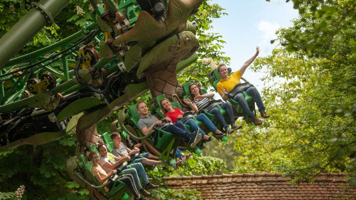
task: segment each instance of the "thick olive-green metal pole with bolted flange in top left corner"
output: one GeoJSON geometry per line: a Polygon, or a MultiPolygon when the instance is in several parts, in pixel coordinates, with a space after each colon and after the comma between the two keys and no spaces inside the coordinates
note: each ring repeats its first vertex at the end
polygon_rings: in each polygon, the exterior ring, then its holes
{"type": "Polygon", "coordinates": [[[31,10],[0,38],[0,69],[15,56],[45,25],[69,3],[69,0],[41,0],[32,2],[31,10]]]}

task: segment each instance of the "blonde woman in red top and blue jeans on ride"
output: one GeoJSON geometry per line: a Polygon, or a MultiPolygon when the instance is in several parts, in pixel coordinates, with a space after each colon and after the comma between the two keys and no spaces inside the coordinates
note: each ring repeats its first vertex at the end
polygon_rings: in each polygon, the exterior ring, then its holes
{"type": "MultiPolygon", "coordinates": [[[[193,106],[191,100],[186,99],[186,100],[184,100],[184,102],[191,104],[193,106]]],[[[172,103],[170,100],[167,100],[167,99],[160,100],[160,106],[161,106],[164,116],[170,118],[173,123],[175,123],[176,120],[183,118],[184,113],[179,108],[173,109],[172,103]]],[[[194,113],[194,111],[191,111],[191,112],[194,113]]],[[[209,120],[208,117],[206,117],[206,115],[199,114],[196,118],[197,118],[197,120],[202,121],[210,129],[210,131],[212,133],[215,133],[215,135],[217,135],[217,136],[225,136],[226,135],[226,134],[222,133],[220,130],[218,130],[218,128],[211,122],[211,120],[209,120]]],[[[195,122],[195,120],[189,119],[189,120],[185,121],[184,124],[189,125],[190,127],[192,127],[193,130],[198,131],[202,135],[202,138],[204,140],[207,140],[207,141],[213,140],[212,137],[207,136],[201,129],[199,129],[199,126],[195,122]]]]}

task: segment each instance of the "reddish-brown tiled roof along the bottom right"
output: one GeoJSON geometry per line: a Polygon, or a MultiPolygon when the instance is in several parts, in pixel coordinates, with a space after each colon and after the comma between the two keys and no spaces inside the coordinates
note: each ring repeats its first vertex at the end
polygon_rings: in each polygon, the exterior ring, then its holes
{"type": "Polygon", "coordinates": [[[173,189],[200,191],[204,200],[356,200],[345,174],[320,174],[313,183],[291,184],[282,174],[223,174],[168,177],[173,189]]]}

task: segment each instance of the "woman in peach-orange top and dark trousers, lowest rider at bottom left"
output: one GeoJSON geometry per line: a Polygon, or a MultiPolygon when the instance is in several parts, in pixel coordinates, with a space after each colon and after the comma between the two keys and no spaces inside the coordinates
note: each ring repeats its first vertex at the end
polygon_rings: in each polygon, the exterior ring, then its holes
{"type": "MultiPolygon", "coordinates": [[[[99,155],[95,151],[91,151],[88,155],[89,160],[93,162],[93,167],[92,167],[92,174],[95,177],[98,182],[103,185],[107,182],[107,180],[114,174],[117,173],[117,170],[114,169],[112,170],[109,174],[107,174],[99,165],[99,155]]],[[[131,191],[131,193],[134,195],[135,200],[147,200],[146,198],[142,198],[135,185],[134,178],[131,174],[125,174],[125,177],[119,178],[118,179],[121,182],[124,182],[127,186],[127,188],[131,191]]],[[[109,191],[109,188],[104,187],[105,192],[109,191]]]]}

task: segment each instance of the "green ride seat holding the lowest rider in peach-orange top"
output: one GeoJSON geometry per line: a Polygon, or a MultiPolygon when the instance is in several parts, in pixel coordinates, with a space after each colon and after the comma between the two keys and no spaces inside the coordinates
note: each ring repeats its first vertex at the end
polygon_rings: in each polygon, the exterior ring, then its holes
{"type": "MultiPolygon", "coordinates": [[[[123,196],[126,193],[126,184],[119,181],[119,180],[115,180],[113,183],[110,183],[108,180],[107,183],[105,183],[104,185],[101,185],[98,180],[93,176],[92,174],[92,167],[93,167],[93,162],[92,161],[87,161],[84,155],[80,155],[79,156],[79,166],[81,166],[85,172],[86,175],[89,176],[88,178],[91,179],[94,183],[94,185],[96,186],[101,186],[99,188],[99,191],[103,194],[105,194],[107,197],[109,197],[109,199],[122,199],[123,196]],[[110,190],[108,192],[105,192],[104,187],[106,187],[107,185],[112,184],[112,187],[110,188],[110,190]]],[[[115,175],[117,176],[117,175],[115,175]]],[[[124,175],[122,173],[119,174],[120,177],[123,177],[124,175]]]]}

